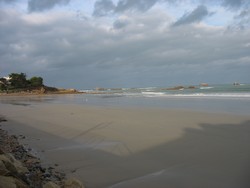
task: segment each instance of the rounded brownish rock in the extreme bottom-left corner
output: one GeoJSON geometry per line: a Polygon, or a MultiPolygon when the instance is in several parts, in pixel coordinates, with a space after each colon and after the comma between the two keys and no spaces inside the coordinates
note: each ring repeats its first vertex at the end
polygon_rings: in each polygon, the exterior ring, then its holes
{"type": "Polygon", "coordinates": [[[28,188],[28,185],[14,177],[0,176],[0,188],[28,188]]]}

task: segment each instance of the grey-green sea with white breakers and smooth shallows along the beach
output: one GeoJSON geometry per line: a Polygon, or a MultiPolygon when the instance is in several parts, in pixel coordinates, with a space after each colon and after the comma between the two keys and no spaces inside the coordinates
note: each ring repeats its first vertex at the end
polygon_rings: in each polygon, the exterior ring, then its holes
{"type": "MultiPolygon", "coordinates": [[[[250,115],[250,84],[209,85],[169,90],[160,87],[121,88],[85,94],[48,95],[12,100],[13,104],[64,103],[109,107],[153,107],[250,115]]],[[[3,102],[3,100],[0,99],[3,102]]],[[[6,102],[6,101],[5,101],[6,102]]]]}

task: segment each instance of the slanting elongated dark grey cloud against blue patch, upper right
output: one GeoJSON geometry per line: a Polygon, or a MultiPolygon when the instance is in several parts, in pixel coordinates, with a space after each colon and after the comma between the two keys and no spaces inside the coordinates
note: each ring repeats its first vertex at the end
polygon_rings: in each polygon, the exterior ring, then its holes
{"type": "Polygon", "coordinates": [[[196,9],[194,9],[191,13],[184,14],[179,20],[177,20],[173,24],[173,26],[200,22],[202,21],[202,19],[204,19],[208,15],[209,15],[209,12],[207,10],[207,7],[204,5],[200,5],[196,9]]]}

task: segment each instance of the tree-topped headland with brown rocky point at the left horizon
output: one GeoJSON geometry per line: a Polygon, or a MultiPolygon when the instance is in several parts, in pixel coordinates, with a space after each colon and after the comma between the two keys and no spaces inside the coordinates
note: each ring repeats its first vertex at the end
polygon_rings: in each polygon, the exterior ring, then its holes
{"type": "Polygon", "coordinates": [[[41,94],[77,94],[76,89],[61,89],[46,86],[39,76],[27,79],[25,73],[11,73],[0,78],[1,95],[41,95],[41,94]]]}

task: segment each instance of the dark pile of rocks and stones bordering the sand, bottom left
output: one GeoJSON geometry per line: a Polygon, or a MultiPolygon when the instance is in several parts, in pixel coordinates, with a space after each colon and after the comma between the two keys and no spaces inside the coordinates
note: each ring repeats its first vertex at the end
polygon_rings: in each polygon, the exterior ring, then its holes
{"type": "MultiPolygon", "coordinates": [[[[3,121],[6,119],[0,117],[3,121]]],[[[84,188],[79,180],[66,179],[54,167],[43,167],[30,149],[19,144],[18,138],[25,136],[9,135],[0,129],[0,188],[84,188]]]]}

